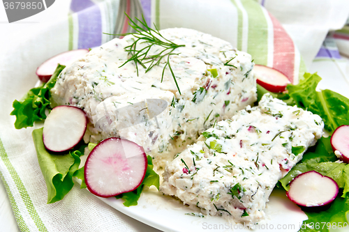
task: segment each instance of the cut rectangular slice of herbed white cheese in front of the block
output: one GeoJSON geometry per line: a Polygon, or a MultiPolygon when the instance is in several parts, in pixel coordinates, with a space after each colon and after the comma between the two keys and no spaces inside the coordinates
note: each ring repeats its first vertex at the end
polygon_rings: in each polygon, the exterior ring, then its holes
{"type": "Polygon", "coordinates": [[[265,94],[220,121],[179,153],[163,173],[161,192],[210,215],[258,222],[277,181],[322,137],[320,116],[265,94]]]}

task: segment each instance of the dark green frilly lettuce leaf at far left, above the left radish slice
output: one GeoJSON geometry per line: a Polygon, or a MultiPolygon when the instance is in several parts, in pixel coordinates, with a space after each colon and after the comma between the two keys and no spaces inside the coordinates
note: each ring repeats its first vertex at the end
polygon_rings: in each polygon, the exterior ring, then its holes
{"type": "Polygon", "coordinates": [[[16,116],[15,128],[32,127],[35,121],[40,121],[46,118],[45,110],[50,108],[50,89],[56,84],[57,77],[65,68],[64,65],[57,65],[54,74],[50,80],[26,93],[20,101],[13,102],[13,111],[10,115],[16,116]]]}

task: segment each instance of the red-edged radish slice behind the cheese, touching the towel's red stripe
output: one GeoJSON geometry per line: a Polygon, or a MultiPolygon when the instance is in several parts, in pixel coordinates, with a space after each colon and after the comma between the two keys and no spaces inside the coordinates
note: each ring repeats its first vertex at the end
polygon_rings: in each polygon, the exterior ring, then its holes
{"type": "Polygon", "coordinates": [[[265,65],[255,65],[253,72],[255,72],[255,77],[257,77],[257,83],[273,93],[285,91],[286,86],[291,83],[281,72],[265,65]]]}

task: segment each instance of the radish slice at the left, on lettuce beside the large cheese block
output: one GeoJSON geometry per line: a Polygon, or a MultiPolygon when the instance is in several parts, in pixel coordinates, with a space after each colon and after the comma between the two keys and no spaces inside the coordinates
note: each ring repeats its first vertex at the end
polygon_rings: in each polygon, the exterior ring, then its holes
{"type": "Polygon", "coordinates": [[[77,107],[54,107],[43,128],[43,143],[47,150],[62,152],[80,142],[87,127],[87,116],[77,107]]]}

